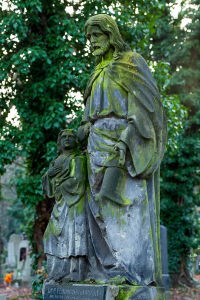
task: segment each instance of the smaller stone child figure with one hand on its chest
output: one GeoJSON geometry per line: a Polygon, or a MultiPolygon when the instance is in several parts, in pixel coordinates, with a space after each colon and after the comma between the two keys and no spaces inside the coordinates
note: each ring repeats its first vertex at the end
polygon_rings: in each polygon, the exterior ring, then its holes
{"type": "Polygon", "coordinates": [[[55,197],[55,205],[44,233],[48,278],[45,283],[81,281],[87,270],[85,216],[85,156],[73,130],[62,130],[57,155],[42,177],[42,189],[55,197]]]}

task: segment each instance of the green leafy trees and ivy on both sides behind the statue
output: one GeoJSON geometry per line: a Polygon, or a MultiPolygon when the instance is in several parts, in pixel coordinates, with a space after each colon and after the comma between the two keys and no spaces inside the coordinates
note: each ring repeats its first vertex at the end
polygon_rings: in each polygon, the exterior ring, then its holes
{"type": "MultiPolygon", "coordinates": [[[[55,156],[58,132],[79,126],[82,94],[94,67],[84,22],[90,15],[109,12],[122,38],[154,68],[162,95],[168,143],[161,166],[161,219],[168,228],[170,271],[178,272],[178,263],[195,244],[192,236],[198,227],[193,213],[199,198],[193,189],[199,184],[200,113],[195,79],[199,76],[199,12],[190,14],[193,8],[189,8],[173,19],[163,0],[7,3],[0,18],[0,32],[4,32],[0,36],[0,174],[5,164],[17,156],[24,158],[27,168],[16,179],[15,211],[20,204],[29,211],[26,234],[32,243],[34,269],[40,253],[33,228],[36,209],[44,200],[40,178],[55,156]],[[179,26],[183,15],[194,16],[186,31],[179,26]],[[7,116],[14,107],[10,120],[7,116]]],[[[33,281],[35,292],[37,284],[33,281]]]]}

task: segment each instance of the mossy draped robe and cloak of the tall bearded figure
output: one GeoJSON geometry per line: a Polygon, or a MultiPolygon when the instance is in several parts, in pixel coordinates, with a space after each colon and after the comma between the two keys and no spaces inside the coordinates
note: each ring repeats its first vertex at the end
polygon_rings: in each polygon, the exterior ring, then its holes
{"type": "Polygon", "coordinates": [[[159,165],[166,118],[145,60],[126,52],[121,59],[98,64],[85,89],[84,104],[78,135],[86,140],[84,129],[90,124],[86,209],[92,249],[88,260],[95,265],[92,276],[162,285],[159,165]],[[113,149],[117,141],[127,149],[122,166],[113,149]]]}

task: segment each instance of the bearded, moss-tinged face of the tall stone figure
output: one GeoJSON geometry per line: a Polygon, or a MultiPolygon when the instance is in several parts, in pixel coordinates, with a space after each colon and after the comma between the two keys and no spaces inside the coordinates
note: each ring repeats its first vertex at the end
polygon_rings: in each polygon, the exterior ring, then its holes
{"type": "Polygon", "coordinates": [[[109,36],[103,32],[99,26],[88,25],[86,36],[92,46],[95,56],[104,56],[110,48],[109,36]]]}

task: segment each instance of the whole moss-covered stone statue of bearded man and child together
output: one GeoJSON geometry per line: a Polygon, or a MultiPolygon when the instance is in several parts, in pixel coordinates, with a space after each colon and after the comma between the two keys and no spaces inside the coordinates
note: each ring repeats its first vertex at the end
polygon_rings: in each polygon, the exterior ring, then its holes
{"type": "MultiPolygon", "coordinates": [[[[78,129],[87,145],[88,180],[76,133],[62,130],[42,178],[56,201],[44,234],[46,282],[118,285],[126,288],[123,299],[161,300],[159,165],[166,118],[160,95],[145,60],[122,40],[112,17],[91,16],[85,35],[96,57],[78,129]]],[[[115,287],[113,299],[121,288],[115,287]]],[[[58,291],[54,286],[46,293],[51,290],[58,291]]]]}

